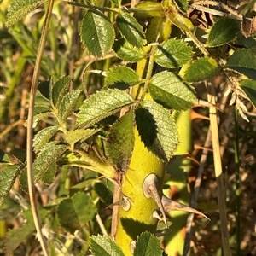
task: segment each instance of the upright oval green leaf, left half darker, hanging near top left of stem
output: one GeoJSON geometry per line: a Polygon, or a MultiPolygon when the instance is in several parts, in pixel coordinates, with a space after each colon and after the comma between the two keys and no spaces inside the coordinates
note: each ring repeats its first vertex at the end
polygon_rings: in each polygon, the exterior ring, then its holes
{"type": "Polygon", "coordinates": [[[103,56],[112,48],[115,34],[113,25],[105,15],[88,10],[81,22],[80,37],[92,55],[103,56]]]}

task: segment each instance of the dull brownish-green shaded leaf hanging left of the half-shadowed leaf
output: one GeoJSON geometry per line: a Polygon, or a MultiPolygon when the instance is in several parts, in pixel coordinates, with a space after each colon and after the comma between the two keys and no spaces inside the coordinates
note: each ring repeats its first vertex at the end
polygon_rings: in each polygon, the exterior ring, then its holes
{"type": "Polygon", "coordinates": [[[107,155],[110,162],[121,172],[125,172],[130,164],[134,147],[133,112],[125,113],[111,127],[107,137],[107,155]]]}

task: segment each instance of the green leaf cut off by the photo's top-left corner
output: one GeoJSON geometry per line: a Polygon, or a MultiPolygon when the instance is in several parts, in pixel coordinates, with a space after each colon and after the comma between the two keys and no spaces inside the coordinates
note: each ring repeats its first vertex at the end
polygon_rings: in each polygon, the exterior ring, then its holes
{"type": "Polygon", "coordinates": [[[47,0],[13,0],[9,3],[7,14],[7,22],[5,26],[9,27],[15,24],[18,20],[22,19],[26,14],[36,9],[39,4],[47,0]]]}

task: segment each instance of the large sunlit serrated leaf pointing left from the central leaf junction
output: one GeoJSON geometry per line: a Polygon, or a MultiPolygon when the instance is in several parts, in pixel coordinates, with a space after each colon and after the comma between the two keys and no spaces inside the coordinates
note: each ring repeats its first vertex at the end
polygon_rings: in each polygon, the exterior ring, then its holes
{"type": "Polygon", "coordinates": [[[89,127],[133,102],[133,98],[122,90],[97,91],[86,99],[79,108],[77,123],[89,127]]]}

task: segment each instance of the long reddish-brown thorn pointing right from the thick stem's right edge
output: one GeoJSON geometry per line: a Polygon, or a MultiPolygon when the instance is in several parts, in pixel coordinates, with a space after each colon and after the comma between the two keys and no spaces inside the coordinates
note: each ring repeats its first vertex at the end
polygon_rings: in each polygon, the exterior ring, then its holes
{"type": "Polygon", "coordinates": [[[166,212],[171,212],[173,210],[184,211],[184,212],[193,212],[193,213],[199,214],[199,215],[203,216],[204,218],[207,218],[208,220],[210,220],[210,218],[208,218],[202,212],[199,212],[199,211],[195,210],[192,207],[188,207],[186,205],[183,205],[183,204],[181,204],[177,201],[173,201],[172,199],[166,197],[166,195],[162,196],[161,202],[162,202],[163,207],[164,207],[166,212]]]}

